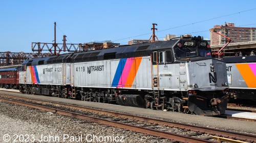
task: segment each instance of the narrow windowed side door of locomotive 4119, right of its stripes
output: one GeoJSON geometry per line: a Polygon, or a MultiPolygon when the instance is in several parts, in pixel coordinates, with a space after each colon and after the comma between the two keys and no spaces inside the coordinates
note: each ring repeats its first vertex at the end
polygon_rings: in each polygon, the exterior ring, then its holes
{"type": "Polygon", "coordinates": [[[157,51],[153,52],[153,54],[151,55],[151,59],[152,59],[152,89],[159,90],[157,51]]]}

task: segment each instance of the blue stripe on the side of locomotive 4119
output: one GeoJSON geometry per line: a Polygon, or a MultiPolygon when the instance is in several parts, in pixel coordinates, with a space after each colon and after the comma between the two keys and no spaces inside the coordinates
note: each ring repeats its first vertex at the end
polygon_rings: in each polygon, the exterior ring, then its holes
{"type": "Polygon", "coordinates": [[[118,63],[118,66],[117,66],[117,69],[116,69],[116,73],[115,73],[115,76],[114,76],[114,79],[113,79],[113,82],[112,82],[112,87],[117,87],[118,86],[118,82],[120,80],[120,77],[122,75],[122,72],[123,72],[123,68],[124,68],[124,65],[126,63],[126,58],[125,59],[121,59],[118,63]]]}

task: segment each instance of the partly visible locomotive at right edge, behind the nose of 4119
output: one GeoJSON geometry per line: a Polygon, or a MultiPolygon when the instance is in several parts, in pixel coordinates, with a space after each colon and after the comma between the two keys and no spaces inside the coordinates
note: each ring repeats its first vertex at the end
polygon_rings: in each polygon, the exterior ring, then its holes
{"type": "Polygon", "coordinates": [[[230,97],[256,101],[256,55],[223,57],[226,62],[230,97]]]}

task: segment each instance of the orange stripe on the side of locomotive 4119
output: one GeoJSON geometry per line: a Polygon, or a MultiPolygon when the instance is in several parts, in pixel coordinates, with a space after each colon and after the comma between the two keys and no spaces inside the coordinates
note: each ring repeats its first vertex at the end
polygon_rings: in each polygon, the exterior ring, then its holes
{"type": "Polygon", "coordinates": [[[136,73],[139,69],[140,63],[141,63],[142,58],[141,57],[137,57],[134,59],[133,65],[131,67],[130,73],[126,79],[125,82],[125,88],[131,88],[133,85],[133,81],[135,79],[136,73]]]}

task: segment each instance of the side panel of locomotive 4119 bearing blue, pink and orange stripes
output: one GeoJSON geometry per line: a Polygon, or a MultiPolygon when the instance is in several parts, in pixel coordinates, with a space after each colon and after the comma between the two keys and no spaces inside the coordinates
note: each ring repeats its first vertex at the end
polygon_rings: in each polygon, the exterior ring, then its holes
{"type": "Polygon", "coordinates": [[[111,87],[152,89],[150,56],[111,61],[111,87]]]}

